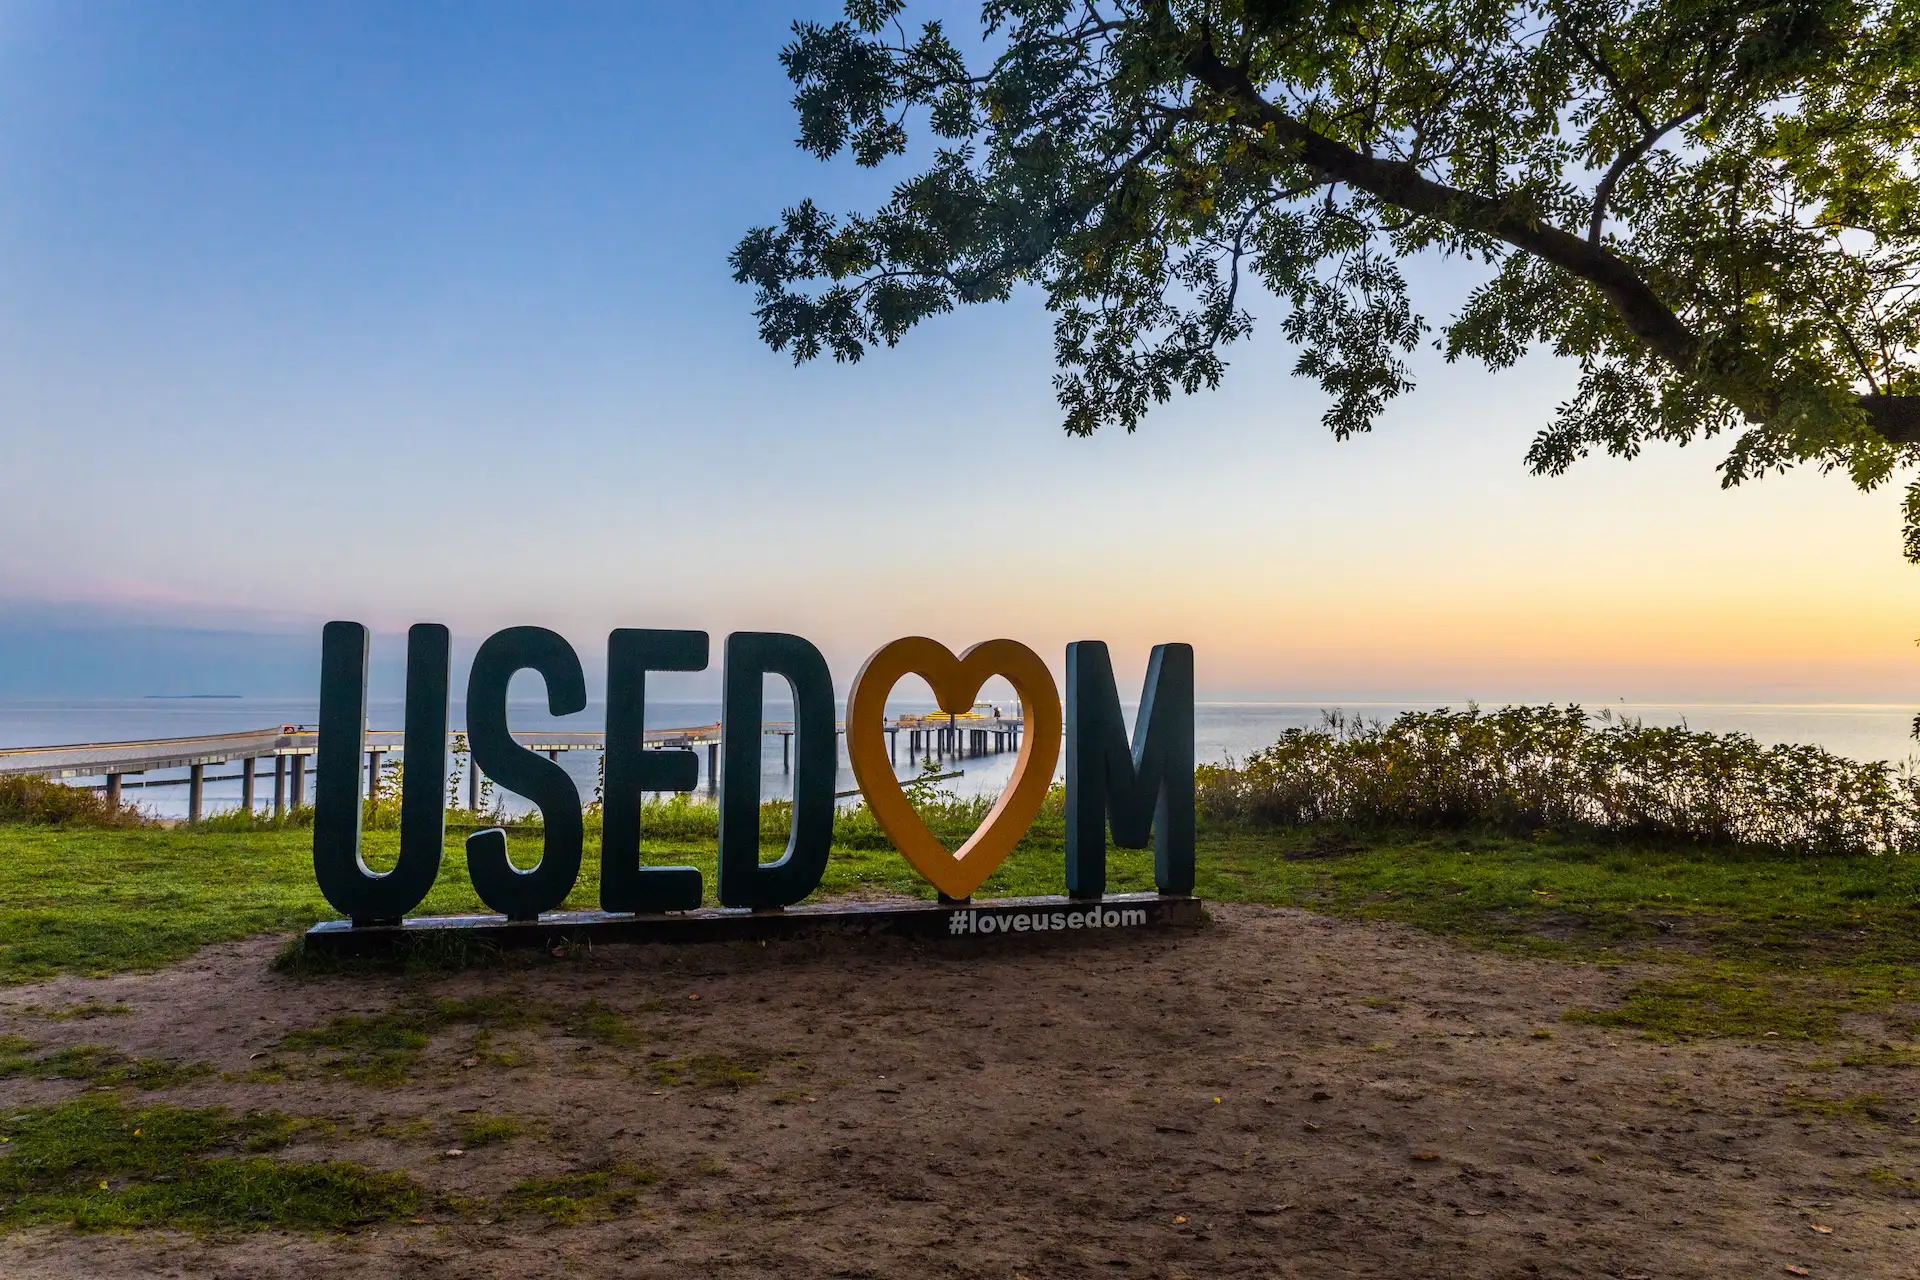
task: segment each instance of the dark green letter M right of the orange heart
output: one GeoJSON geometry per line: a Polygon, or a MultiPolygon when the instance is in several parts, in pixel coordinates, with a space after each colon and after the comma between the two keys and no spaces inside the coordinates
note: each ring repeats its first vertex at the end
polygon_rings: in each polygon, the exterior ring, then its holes
{"type": "Polygon", "coordinates": [[[1068,645],[1068,892],[1106,892],[1114,844],[1146,848],[1164,894],[1194,890],[1194,649],[1154,645],[1127,747],[1114,662],[1100,641],[1068,645]]]}

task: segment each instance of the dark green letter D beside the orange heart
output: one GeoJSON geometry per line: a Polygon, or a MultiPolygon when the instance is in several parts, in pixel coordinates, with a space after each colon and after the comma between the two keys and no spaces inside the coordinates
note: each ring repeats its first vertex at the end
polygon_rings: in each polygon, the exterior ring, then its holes
{"type": "Polygon", "coordinates": [[[720,902],[772,908],[820,887],[833,844],[833,676],[799,635],[726,637],[720,712],[720,902]],[[760,864],[760,679],[793,687],[793,827],[778,862],[760,864]]]}

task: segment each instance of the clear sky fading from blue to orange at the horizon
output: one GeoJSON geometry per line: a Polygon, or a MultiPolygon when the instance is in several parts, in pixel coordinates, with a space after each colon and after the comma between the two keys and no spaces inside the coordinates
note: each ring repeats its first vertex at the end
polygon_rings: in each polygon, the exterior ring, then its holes
{"type": "Polygon", "coordinates": [[[1062,434],[1031,294],[795,368],[728,251],[910,173],[793,146],[831,12],[0,0],[0,697],[309,693],[328,618],[797,631],[843,695],[925,633],[1188,641],[1206,699],[1920,697],[1897,493],[1530,476],[1548,355],[1421,357],[1344,443],[1271,299],[1133,436],[1062,434]]]}

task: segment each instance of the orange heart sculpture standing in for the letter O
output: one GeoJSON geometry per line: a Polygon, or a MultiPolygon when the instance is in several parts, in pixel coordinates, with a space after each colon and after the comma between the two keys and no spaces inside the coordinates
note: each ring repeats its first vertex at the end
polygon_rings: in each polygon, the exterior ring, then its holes
{"type": "Polygon", "coordinates": [[[847,695],[847,758],[866,804],[906,862],[948,898],[972,898],[993,869],[1006,862],[1046,802],[1060,764],[1060,687],[1041,656],[1020,641],[973,645],[958,658],[925,635],[883,645],[852,679],[847,695]],[[973,695],[989,676],[1004,676],[1020,695],[1023,718],[1014,777],[966,844],[947,852],[906,800],[887,758],[887,695],[902,676],[920,676],[948,716],[973,710],[973,695]]]}

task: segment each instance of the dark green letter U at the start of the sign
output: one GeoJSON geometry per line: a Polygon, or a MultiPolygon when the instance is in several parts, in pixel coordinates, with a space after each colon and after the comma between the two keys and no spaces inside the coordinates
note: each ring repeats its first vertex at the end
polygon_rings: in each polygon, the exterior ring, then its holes
{"type": "Polygon", "coordinates": [[[367,747],[367,628],[321,631],[321,747],[313,789],[313,879],[355,925],[397,923],[434,887],[445,839],[447,629],[407,631],[407,773],[399,862],[386,875],[361,858],[359,762],[367,747]]]}

